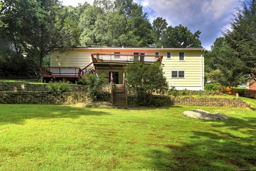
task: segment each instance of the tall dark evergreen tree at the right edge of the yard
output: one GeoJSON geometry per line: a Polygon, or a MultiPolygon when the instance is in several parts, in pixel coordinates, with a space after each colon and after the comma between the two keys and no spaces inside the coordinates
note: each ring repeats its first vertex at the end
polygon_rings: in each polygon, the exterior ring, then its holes
{"type": "MultiPolygon", "coordinates": [[[[231,20],[231,29],[224,35],[232,55],[228,60],[233,64],[233,77],[256,80],[256,0],[242,2],[231,20]]],[[[227,66],[228,68],[229,66],[227,66]]]]}

